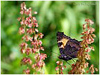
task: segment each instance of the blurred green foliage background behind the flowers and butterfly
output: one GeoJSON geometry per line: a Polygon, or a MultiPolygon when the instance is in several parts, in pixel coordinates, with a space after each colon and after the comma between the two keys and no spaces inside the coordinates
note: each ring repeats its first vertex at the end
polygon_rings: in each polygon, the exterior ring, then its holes
{"type": "MultiPolygon", "coordinates": [[[[22,1],[1,1],[1,73],[22,74],[26,66],[20,65],[23,55],[20,53],[19,44],[22,42],[18,33],[20,23],[20,4],[22,1]]],[[[45,60],[46,73],[56,73],[56,61],[59,60],[57,46],[57,31],[64,32],[67,36],[81,41],[80,33],[86,18],[94,21],[95,42],[91,44],[95,51],[91,51],[90,65],[99,68],[99,2],[96,1],[26,1],[27,8],[32,7],[37,11],[39,31],[44,34],[43,46],[48,58],[45,60]]],[[[74,63],[72,60],[68,61],[74,63]]],[[[68,73],[70,65],[64,61],[68,73]]],[[[99,73],[99,72],[96,72],[99,73]]]]}

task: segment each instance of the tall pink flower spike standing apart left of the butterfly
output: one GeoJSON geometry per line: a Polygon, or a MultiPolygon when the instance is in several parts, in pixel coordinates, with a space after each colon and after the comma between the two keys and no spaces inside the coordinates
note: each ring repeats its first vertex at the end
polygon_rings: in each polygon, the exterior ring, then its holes
{"type": "MultiPolygon", "coordinates": [[[[24,70],[24,73],[29,74],[32,71],[35,73],[44,73],[42,71],[43,66],[45,65],[44,60],[47,57],[46,54],[40,53],[40,50],[44,51],[42,46],[43,34],[38,31],[38,23],[36,17],[32,16],[32,9],[26,8],[25,3],[21,4],[21,17],[18,18],[20,21],[21,27],[19,28],[19,33],[23,35],[21,43],[21,53],[26,54],[25,57],[21,60],[22,65],[28,65],[27,69],[24,70]],[[34,57],[31,58],[29,55],[33,54],[34,57]],[[33,62],[35,60],[35,63],[33,62]],[[31,68],[30,68],[31,66],[31,68]]],[[[37,12],[34,12],[34,15],[37,12]]]]}

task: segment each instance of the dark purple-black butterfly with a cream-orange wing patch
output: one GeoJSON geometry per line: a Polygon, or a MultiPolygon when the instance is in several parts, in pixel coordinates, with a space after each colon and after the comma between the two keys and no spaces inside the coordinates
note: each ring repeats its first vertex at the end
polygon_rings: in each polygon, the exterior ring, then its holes
{"type": "Polygon", "coordinates": [[[57,32],[57,43],[60,50],[60,56],[58,58],[65,61],[77,58],[78,50],[81,48],[80,42],[71,39],[63,32],[57,32]]]}

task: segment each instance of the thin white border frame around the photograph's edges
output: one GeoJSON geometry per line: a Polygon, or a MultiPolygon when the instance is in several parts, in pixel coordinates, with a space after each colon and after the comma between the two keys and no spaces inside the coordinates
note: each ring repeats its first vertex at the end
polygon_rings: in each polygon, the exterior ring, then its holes
{"type": "MultiPolygon", "coordinates": [[[[99,0],[0,0],[0,11],[1,11],[1,1],[99,1],[99,0]]],[[[1,12],[0,12],[0,17],[1,17],[1,12]]],[[[1,39],[1,18],[0,18],[0,39],[1,39]]],[[[99,39],[100,39],[100,1],[99,1],[99,39]]],[[[99,40],[99,47],[100,47],[100,40],[99,40]]],[[[100,59],[100,48],[99,48],[99,59],[100,59]]],[[[1,60],[1,40],[0,40],[0,60],[1,60]]],[[[1,61],[0,61],[0,67],[1,67],[1,61]]],[[[1,68],[0,68],[0,74],[1,74],[1,68]]],[[[99,64],[99,74],[100,74],[100,64],[99,64]]],[[[8,75],[8,74],[2,74],[2,75],[8,75]]],[[[19,74],[10,74],[10,75],[19,75],[19,74]]],[[[20,75],[26,75],[26,74],[20,74],[20,75]]],[[[29,74],[29,75],[33,75],[33,74],[29,74]]],[[[39,74],[35,74],[35,75],[39,75],[39,74]]],[[[56,75],[56,74],[40,74],[40,75],[56,75]]],[[[63,75],[69,75],[69,74],[63,74],[63,75]]],[[[74,74],[74,75],[78,75],[78,74],[74,74]]],[[[85,75],[91,75],[91,74],[85,74],[85,75]]]]}

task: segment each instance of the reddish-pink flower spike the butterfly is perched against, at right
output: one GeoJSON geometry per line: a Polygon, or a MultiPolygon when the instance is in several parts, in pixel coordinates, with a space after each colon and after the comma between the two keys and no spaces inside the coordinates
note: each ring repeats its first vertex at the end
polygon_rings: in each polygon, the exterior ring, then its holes
{"type": "Polygon", "coordinates": [[[91,72],[93,74],[95,71],[98,71],[97,68],[94,68],[93,64],[90,66],[89,70],[85,71],[85,69],[89,66],[89,63],[86,60],[90,60],[89,52],[91,50],[94,51],[94,48],[89,46],[89,44],[94,42],[95,31],[94,28],[91,27],[94,22],[90,19],[85,19],[85,24],[83,24],[83,32],[82,35],[82,42],[80,43],[81,49],[78,51],[78,60],[75,64],[72,64],[72,70],[69,71],[69,74],[84,74],[91,72]]]}

